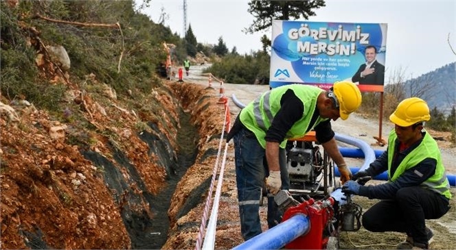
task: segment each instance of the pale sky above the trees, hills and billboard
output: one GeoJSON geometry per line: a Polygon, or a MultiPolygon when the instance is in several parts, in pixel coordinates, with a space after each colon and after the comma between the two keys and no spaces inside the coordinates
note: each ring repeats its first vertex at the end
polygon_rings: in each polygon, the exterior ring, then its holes
{"type": "MultiPolygon", "coordinates": [[[[141,0],[135,0],[138,4],[141,0]]],[[[253,23],[247,12],[248,0],[187,0],[187,25],[198,42],[216,45],[220,36],[229,51],[238,53],[262,49],[261,36],[266,32],[244,34],[253,23]]],[[[168,14],[165,25],[172,32],[183,34],[183,0],[151,0],[141,10],[158,22],[161,9],[168,14]]],[[[428,1],[335,1],[315,10],[308,21],[339,23],[387,23],[385,67],[388,73],[400,72],[406,79],[418,77],[456,61],[456,0],[428,1]]],[[[304,21],[304,20],[302,20],[304,21]]]]}

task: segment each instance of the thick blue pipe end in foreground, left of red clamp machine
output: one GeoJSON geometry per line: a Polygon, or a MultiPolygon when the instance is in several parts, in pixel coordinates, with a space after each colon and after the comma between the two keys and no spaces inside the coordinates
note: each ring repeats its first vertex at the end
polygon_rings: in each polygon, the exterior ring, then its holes
{"type": "Polygon", "coordinates": [[[268,231],[258,234],[233,249],[282,249],[310,229],[309,219],[304,214],[296,214],[268,231]]]}

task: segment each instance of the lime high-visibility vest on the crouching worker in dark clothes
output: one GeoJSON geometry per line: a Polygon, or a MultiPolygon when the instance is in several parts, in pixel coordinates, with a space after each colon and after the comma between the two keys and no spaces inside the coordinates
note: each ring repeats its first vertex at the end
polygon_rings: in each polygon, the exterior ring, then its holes
{"type": "Polygon", "coordinates": [[[421,186],[434,192],[438,192],[441,195],[444,195],[446,198],[451,199],[451,192],[450,192],[450,183],[446,178],[445,168],[442,164],[442,156],[440,155],[439,147],[437,146],[437,142],[429,135],[428,132],[424,134],[424,138],[420,145],[413,149],[409,154],[407,154],[400,162],[396,172],[391,177],[391,165],[394,158],[394,147],[396,145],[396,139],[398,136],[396,132],[391,130],[388,137],[388,179],[389,181],[394,181],[398,179],[402,173],[407,171],[409,168],[413,168],[418,163],[422,162],[426,158],[433,158],[437,161],[437,166],[435,168],[435,173],[433,176],[426,179],[421,186]]]}

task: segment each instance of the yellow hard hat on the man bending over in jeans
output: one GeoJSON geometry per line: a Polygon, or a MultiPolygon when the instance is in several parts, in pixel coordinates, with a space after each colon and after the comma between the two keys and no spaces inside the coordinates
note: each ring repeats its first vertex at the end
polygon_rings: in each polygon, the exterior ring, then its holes
{"type": "Polygon", "coordinates": [[[347,120],[348,116],[361,105],[361,91],[356,84],[348,81],[334,82],[332,91],[339,102],[341,119],[347,120]]]}

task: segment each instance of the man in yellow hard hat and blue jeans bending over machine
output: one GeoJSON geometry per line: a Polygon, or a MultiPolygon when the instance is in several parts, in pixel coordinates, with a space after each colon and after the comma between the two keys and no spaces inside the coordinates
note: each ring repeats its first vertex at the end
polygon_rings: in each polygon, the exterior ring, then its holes
{"type": "Polygon", "coordinates": [[[280,222],[273,200],[290,183],[286,163],[286,142],[315,129],[317,140],[337,164],[341,182],[350,179],[331,128],[331,120],[343,120],[361,105],[361,92],[352,82],[336,82],[330,90],[304,84],[273,88],[243,108],[231,128],[227,141],[234,140],[236,182],[244,240],[261,234],[258,214],[262,184],[271,196],[268,201],[268,225],[280,222]],[[266,156],[267,166],[263,159],[266,156]]]}

